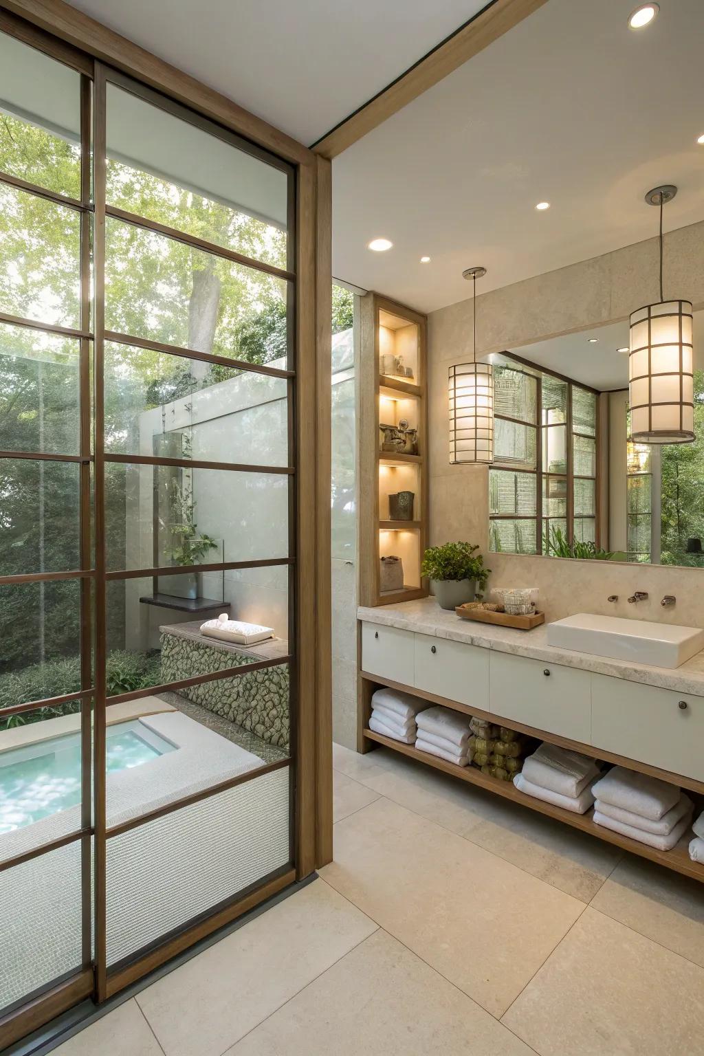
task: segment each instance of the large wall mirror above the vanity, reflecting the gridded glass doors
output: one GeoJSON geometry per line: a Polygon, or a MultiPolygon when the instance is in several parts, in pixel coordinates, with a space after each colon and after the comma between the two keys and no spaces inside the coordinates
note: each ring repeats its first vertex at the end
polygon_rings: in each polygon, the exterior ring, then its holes
{"type": "Polygon", "coordinates": [[[633,439],[630,343],[624,320],[488,357],[491,551],[704,568],[704,310],[689,442],[633,439]]]}

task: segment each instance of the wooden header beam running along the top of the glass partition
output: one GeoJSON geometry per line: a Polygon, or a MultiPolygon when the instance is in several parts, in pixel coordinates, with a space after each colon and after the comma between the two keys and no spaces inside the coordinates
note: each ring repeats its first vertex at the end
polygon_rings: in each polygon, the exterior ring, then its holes
{"type": "Polygon", "coordinates": [[[101,62],[220,121],[292,165],[315,163],[303,144],[63,0],[3,0],[2,6],[101,62]]]}

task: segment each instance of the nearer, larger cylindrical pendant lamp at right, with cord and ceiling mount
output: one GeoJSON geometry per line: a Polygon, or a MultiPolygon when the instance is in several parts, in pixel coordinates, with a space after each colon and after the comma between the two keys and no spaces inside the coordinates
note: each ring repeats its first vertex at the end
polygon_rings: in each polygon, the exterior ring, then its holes
{"type": "Polygon", "coordinates": [[[695,383],[691,302],[663,297],[663,206],[677,187],[648,191],[660,208],[660,301],[630,317],[628,390],[634,444],[691,444],[695,439],[695,383]]]}

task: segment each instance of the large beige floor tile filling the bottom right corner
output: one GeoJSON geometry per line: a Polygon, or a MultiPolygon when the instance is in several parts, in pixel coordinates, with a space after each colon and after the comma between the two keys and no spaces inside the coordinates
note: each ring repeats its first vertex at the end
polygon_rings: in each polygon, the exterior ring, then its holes
{"type": "Polygon", "coordinates": [[[588,908],[503,1022],[540,1056],[704,1052],[704,970],[588,908]]]}

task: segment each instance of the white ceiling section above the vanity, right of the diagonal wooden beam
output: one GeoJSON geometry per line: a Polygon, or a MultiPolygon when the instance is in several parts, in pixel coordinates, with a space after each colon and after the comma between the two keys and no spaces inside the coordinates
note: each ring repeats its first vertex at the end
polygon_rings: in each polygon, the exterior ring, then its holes
{"type": "Polygon", "coordinates": [[[661,183],[665,230],[704,218],[704,2],[634,3],[549,0],[336,158],[335,275],[432,310],[652,237],[661,183]]]}

